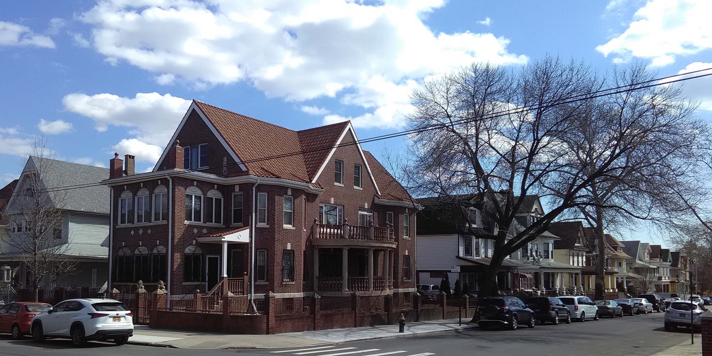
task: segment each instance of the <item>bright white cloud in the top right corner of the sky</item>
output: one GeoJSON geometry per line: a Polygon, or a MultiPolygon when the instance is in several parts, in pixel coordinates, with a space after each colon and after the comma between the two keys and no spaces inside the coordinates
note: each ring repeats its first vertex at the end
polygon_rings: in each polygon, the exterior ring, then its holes
{"type": "MultiPolygon", "coordinates": [[[[609,6],[617,6],[612,1],[609,6]]],[[[651,0],[633,15],[626,31],[596,49],[614,63],[646,58],[652,66],[667,66],[676,56],[712,48],[712,1],[651,0]]]]}

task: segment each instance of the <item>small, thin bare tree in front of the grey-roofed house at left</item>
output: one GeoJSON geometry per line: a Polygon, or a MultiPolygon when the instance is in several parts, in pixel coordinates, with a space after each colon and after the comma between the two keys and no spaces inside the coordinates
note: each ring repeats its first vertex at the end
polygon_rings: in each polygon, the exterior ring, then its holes
{"type": "Polygon", "coordinates": [[[9,216],[9,251],[5,254],[21,263],[32,299],[38,301],[38,290],[60,276],[72,273],[76,261],[69,257],[68,244],[61,236],[63,192],[47,192],[44,182],[53,174],[51,152],[43,139],[36,140],[33,155],[27,158],[29,168],[16,188],[9,216]]]}

